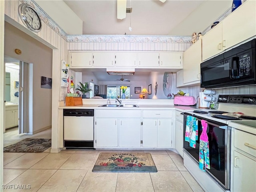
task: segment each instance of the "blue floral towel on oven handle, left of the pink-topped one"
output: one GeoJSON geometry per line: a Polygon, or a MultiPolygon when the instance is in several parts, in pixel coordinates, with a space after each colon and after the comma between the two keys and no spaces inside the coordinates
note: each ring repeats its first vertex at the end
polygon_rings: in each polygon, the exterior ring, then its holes
{"type": "Polygon", "coordinates": [[[189,146],[196,148],[196,140],[198,140],[198,120],[188,115],[186,123],[185,141],[189,142],[189,146]]]}

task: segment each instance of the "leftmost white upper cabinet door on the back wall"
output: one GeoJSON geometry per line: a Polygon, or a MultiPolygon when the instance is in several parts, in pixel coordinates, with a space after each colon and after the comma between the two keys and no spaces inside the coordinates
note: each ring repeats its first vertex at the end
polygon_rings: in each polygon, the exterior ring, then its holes
{"type": "Polygon", "coordinates": [[[91,67],[92,53],[91,52],[71,52],[70,53],[71,67],[91,67]]]}

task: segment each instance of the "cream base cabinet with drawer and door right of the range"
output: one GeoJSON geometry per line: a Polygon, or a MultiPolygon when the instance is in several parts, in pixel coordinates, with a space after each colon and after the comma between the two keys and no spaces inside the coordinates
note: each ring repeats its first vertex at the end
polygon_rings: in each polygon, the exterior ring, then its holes
{"type": "Polygon", "coordinates": [[[230,192],[256,190],[256,135],[232,128],[230,192]]]}

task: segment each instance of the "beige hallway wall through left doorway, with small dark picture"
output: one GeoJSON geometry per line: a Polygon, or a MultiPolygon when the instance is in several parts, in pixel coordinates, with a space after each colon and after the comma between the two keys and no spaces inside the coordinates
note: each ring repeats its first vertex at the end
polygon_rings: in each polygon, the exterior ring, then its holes
{"type": "Polygon", "coordinates": [[[33,111],[30,114],[33,118],[33,130],[30,132],[51,126],[52,89],[41,88],[41,76],[52,78],[52,49],[7,22],[5,22],[4,45],[5,55],[33,65],[33,98],[29,98],[33,103],[33,111]],[[20,49],[22,54],[17,55],[14,52],[16,48],[20,49]]]}

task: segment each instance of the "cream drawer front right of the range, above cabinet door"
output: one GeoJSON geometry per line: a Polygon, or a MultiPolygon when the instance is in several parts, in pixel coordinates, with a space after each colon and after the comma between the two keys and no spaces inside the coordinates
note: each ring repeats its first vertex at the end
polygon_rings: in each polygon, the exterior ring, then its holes
{"type": "Polygon", "coordinates": [[[256,135],[235,129],[234,146],[256,157],[256,135]]]}

